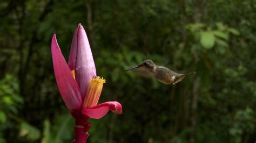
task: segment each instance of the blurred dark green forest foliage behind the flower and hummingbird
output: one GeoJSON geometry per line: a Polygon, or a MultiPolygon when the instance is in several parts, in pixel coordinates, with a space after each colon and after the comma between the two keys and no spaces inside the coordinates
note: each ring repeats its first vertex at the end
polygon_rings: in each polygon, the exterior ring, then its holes
{"type": "Polygon", "coordinates": [[[87,142],[255,142],[256,1],[1,1],[0,142],[71,142],[74,121],[53,74],[54,32],[68,59],[82,23],[100,103],[123,115],[92,123],[87,142]],[[124,70],[151,59],[186,73],[176,86],[124,70]]]}

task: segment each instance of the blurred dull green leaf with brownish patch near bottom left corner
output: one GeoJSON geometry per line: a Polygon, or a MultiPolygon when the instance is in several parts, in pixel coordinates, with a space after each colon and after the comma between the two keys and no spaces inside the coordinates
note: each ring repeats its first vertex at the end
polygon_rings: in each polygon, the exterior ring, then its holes
{"type": "Polygon", "coordinates": [[[37,140],[40,138],[41,132],[38,130],[38,128],[23,121],[21,123],[19,135],[21,137],[26,137],[28,140],[37,140]]]}

